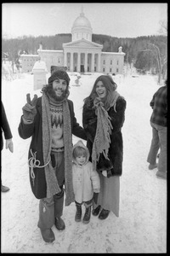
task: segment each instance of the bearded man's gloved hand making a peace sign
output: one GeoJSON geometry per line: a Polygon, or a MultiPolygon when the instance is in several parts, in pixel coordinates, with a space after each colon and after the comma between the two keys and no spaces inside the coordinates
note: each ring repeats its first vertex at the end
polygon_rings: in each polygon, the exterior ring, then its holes
{"type": "Polygon", "coordinates": [[[36,104],[37,104],[37,94],[34,95],[33,99],[30,98],[30,93],[26,95],[26,105],[22,108],[24,118],[26,121],[33,121],[37,113],[36,104]]]}

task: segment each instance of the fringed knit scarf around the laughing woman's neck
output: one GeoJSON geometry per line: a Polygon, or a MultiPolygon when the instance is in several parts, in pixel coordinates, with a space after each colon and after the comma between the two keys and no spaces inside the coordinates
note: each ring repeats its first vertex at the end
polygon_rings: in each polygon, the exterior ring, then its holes
{"type": "MultiPolygon", "coordinates": [[[[111,102],[111,107],[116,111],[116,100],[119,94],[114,91],[113,101],[111,102]]],[[[94,144],[92,149],[92,161],[94,165],[94,170],[96,170],[96,163],[99,161],[99,154],[104,154],[105,159],[108,159],[108,152],[111,143],[111,117],[108,114],[109,109],[105,109],[104,103],[101,102],[99,97],[94,99],[94,108],[97,115],[97,128],[94,137],[94,144]]]]}

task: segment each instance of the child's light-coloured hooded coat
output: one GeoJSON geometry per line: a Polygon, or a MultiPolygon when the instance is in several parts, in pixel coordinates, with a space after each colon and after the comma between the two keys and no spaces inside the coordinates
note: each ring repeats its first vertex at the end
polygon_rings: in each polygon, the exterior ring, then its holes
{"type": "Polygon", "coordinates": [[[89,161],[88,148],[85,147],[82,141],[79,141],[74,145],[73,150],[78,146],[86,150],[87,158],[84,165],[79,166],[73,156],[72,183],[75,200],[78,203],[82,203],[93,198],[94,190],[99,193],[100,181],[98,172],[93,169],[93,164],[89,161]]]}

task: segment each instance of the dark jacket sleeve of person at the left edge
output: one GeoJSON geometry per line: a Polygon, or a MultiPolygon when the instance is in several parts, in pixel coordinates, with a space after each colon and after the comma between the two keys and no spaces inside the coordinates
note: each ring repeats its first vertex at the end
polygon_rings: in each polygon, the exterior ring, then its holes
{"type": "Polygon", "coordinates": [[[5,113],[5,108],[3,107],[3,102],[1,102],[1,150],[3,149],[3,134],[6,140],[11,139],[12,133],[8,125],[7,115],[5,113]]]}

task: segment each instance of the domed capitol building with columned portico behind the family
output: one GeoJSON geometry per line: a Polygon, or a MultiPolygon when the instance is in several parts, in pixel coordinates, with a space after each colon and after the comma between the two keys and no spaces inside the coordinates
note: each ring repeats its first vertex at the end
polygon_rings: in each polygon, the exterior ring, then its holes
{"type": "Polygon", "coordinates": [[[67,67],[68,72],[79,73],[123,73],[124,55],[118,52],[103,52],[103,45],[92,42],[92,26],[83,12],[71,28],[71,42],[63,44],[63,50],[42,49],[37,55],[20,55],[22,72],[29,73],[38,60],[44,61],[50,72],[51,66],[67,67]]]}

